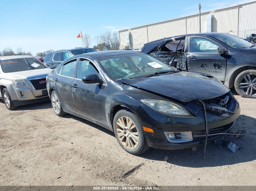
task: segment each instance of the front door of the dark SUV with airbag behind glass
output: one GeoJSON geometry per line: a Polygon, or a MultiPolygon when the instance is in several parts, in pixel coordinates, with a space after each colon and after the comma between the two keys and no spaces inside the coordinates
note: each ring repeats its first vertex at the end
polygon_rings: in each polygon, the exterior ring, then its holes
{"type": "Polygon", "coordinates": [[[224,48],[207,37],[188,37],[188,71],[214,75],[220,81],[224,81],[227,54],[218,53],[218,47],[224,48]]]}

